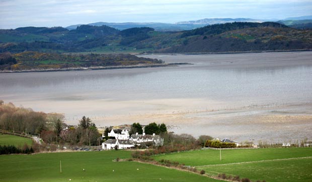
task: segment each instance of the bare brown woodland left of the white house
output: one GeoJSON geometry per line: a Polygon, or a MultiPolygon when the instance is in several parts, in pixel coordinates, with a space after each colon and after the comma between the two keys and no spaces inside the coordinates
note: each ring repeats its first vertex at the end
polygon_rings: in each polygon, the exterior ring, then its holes
{"type": "Polygon", "coordinates": [[[68,127],[62,114],[36,112],[2,100],[0,129],[23,135],[40,135],[47,144],[98,145],[101,136],[89,117],[83,116],[78,126],[68,127]]]}

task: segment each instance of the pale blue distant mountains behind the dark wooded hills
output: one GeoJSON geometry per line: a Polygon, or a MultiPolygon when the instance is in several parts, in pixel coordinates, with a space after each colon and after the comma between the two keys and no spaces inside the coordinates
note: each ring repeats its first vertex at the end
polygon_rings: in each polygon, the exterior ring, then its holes
{"type": "MultiPolygon", "coordinates": [[[[297,21],[297,20],[311,20],[312,16],[302,16],[302,17],[293,17],[293,18],[286,18],[284,20],[261,20],[261,19],[251,19],[251,18],[205,18],[201,20],[195,20],[195,21],[183,21],[183,22],[177,22],[177,23],[136,23],[136,22],[125,22],[125,23],[109,23],[109,22],[96,22],[96,23],[90,23],[88,25],[92,26],[102,26],[106,25],[118,30],[125,30],[128,28],[135,28],[135,27],[150,27],[155,29],[156,31],[162,31],[162,32],[170,32],[170,31],[184,31],[184,30],[192,30],[195,28],[204,27],[207,25],[214,25],[214,24],[222,24],[222,23],[232,23],[232,22],[279,22],[285,25],[290,25],[289,21],[297,21]]],[[[296,24],[295,22],[292,24],[296,24]]],[[[291,25],[292,25],[291,24],[291,25]]],[[[301,24],[299,22],[298,24],[301,24]]],[[[70,25],[67,28],[68,30],[74,30],[78,26],[82,24],[77,25],[70,25]]],[[[301,25],[302,26],[302,25],[301,25]]],[[[300,26],[300,27],[301,27],[300,26]]],[[[295,27],[294,27],[295,28],[295,27]]]]}

